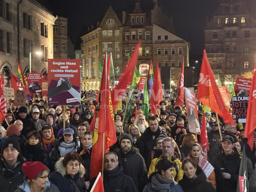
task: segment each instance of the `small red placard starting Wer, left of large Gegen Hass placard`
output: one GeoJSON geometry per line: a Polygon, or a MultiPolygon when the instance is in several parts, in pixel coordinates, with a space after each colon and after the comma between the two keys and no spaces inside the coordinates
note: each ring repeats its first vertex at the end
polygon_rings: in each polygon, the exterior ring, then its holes
{"type": "Polygon", "coordinates": [[[27,73],[29,93],[42,93],[42,73],[27,73]]]}

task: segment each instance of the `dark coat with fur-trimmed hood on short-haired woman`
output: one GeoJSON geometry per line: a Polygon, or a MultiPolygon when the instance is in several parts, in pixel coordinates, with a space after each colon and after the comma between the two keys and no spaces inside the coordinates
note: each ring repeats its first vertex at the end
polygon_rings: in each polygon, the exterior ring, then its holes
{"type": "Polygon", "coordinates": [[[56,162],[55,171],[50,173],[48,177],[49,181],[56,185],[60,192],[78,192],[75,185],[78,187],[80,192],[84,192],[84,166],[80,164],[78,173],[74,178],[71,178],[71,176],[66,173],[66,167],[63,165],[63,159],[64,158],[62,157],[56,162]]]}

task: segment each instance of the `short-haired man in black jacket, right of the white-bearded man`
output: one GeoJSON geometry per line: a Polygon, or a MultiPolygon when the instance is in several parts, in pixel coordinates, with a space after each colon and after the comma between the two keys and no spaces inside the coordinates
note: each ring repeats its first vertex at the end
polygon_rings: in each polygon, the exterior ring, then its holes
{"type": "Polygon", "coordinates": [[[158,118],[151,116],[148,118],[149,127],[142,133],[139,141],[140,154],[145,162],[148,162],[149,154],[156,146],[156,139],[163,133],[162,128],[158,125],[158,118]]]}

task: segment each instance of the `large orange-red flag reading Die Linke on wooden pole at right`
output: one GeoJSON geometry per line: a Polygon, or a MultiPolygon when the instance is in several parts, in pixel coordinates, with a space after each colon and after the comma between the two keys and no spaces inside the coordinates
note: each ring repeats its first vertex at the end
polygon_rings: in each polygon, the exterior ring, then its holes
{"type": "Polygon", "coordinates": [[[209,106],[212,111],[218,113],[225,123],[234,124],[234,121],[220,95],[220,91],[216,84],[205,50],[198,84],[197,99],[209,106]]]}

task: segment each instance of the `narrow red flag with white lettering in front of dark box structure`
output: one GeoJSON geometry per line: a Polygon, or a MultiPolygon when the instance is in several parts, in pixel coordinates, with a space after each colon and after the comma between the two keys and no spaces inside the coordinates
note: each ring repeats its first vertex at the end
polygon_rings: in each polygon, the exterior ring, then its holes
{"type": "Polygon", "coordinates": [[[180,76],[179,76],[177,87],[178,87],[178,93],[177,93],[177,98],[176,98],[174,107],[176,106],[182,107],[184,103],[184,57],[183,57],[183,61],[180,69],[180,76]]]}

